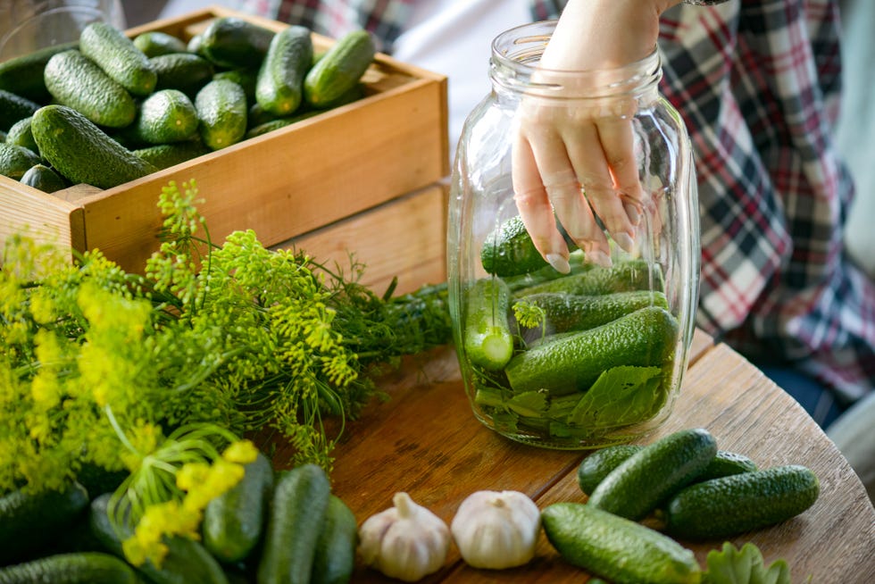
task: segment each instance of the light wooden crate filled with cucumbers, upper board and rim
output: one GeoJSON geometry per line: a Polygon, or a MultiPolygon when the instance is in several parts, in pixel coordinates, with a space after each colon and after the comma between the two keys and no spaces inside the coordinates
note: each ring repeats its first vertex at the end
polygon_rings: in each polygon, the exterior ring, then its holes
{"type": "MultiPolygon", "coordinates": [[[[190,38],[229,15],[275,30],[287,26],[211,7],[128,34],[162,30],[190,38]]],[[[314,35],[317,48],[330,42],[314,35]]],[[[157,198],[171,180],[196,182],[213,240],[254,229],[274,246],[446,177],[446,77],[378,54],[362,82],[365,97],[352,104],[116,188],[78,185],[47,195],[0,176],[0,245],[29,228],[39,240],[99,248],[125,270],[142,271],[158,246],[157,198]]],[[[372,237],[379,239],[379,229],[372,237]]]]}

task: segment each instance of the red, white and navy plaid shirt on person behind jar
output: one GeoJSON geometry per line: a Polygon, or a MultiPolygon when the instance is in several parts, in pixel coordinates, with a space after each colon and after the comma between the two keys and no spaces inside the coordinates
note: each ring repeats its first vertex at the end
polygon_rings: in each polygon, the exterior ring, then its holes
{"type": "MultiPolygon", "coordinates": [[[[381,50],[415,0],[242,0],[240,9],[381,50]]],[[[530,0],[534,20],[562,0],[530,0]]],[[[731,0],[663,14],[662,94],[696,156],[696,324],[754,359],[792,363],[845,403],[875,387],[875,285],[846,257],[853,185],[833,144],[841,85],[832,0],[731,0]]],[[[483,56],[487,59],[487,55],[483,56]]]]}

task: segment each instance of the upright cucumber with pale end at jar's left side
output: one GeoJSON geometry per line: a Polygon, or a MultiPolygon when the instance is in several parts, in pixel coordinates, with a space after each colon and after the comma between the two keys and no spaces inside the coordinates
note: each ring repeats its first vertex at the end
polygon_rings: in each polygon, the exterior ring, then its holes
{"type": "Polygon", "coordinates": [[[497,371],[513,355],[513,338],[508,323],[510,290],[503,279],[483,278],[465,293],[465,355],[472,364],[497,371]]]}

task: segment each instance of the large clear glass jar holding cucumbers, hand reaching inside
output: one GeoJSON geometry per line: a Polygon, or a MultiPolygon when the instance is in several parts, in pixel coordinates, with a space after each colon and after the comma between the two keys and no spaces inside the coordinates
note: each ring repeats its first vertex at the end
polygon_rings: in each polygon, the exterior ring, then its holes
{"type": "Polygon", "coordinates": [[[544,87],[533,75],[543,74],[537,63],[554,27],[527,24],[493,42],[492,91],[466,120],[454,162],[450,310],[479,421],[535,446],[594,448],[654,430],[679,394],[698,296],[696,180],[686,128],[658,91],[658,51],[603,75],[600,87],[574,82],[586,71],[562,71],[544,87]],[[557,91],[562,79],[567,87],[557,91]],[[524,100],[551,95],[569,108],[634,100],[617,115],[633,129],[642,216],[631,251],[608,235],[610,265],[578,249],[571,272],[556,271],[522,226],[511,172],[515,114],[524,100]]]}

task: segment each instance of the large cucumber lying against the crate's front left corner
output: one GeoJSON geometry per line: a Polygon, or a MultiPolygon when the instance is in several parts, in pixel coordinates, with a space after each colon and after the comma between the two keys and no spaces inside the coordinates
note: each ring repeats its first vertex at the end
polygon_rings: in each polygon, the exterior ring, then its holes
{"type": "Polygon", "coordinates": [[[112,188],[157,170],[70,107],[40,108],[31,128],[39,152],[74,184],[112,188]]]}

